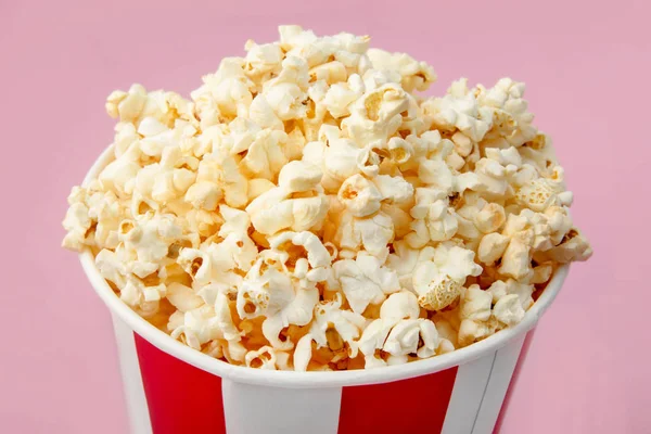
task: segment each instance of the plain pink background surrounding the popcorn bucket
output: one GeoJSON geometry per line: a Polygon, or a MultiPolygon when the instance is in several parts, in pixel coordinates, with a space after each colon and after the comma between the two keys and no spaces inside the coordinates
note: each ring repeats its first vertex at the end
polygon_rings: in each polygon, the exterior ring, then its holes
{"type": "Polygon", "coordinates": [[[187,94],[284,23],[407,51],[437,93],[461,75],[527,82],[596,254],[540,323],[503,432],[651,430],[648,1],[91,3],[0,2],[0,432],[127,430],[108,314],[59,247],[65,197],[112,139],[105,97],[132,81],[187,94]]]}

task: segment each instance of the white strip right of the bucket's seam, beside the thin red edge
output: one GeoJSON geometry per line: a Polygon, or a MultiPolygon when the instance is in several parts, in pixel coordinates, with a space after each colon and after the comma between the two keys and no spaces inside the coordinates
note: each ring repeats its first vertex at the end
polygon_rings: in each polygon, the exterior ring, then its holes
{"type": "Polygon", "coordinates": [[[497,350],[472,434],[490,434],[499,416],[526,333],[497,350]]]}

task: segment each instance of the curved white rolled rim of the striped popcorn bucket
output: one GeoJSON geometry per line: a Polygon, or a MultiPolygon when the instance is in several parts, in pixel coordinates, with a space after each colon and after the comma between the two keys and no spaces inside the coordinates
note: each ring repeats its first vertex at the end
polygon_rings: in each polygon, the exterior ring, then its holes
{"type": "MultiPolygon", "coordinates": [[[[84,184],[95,178],[112,158],[113,145],[108,146],[99,156],[86,175],[84,184]]],[[[429,359],[368,370],[295,372],[259,370],[231,365],[184,345],[152,326],[119,299],[97,269],[94,257],[89,248],[79,254],[79,260],[94,291],[111,312],[158,349],[222,379],[246,384],[285,388],[322,388],[386,383],[435,373],[475,360],[490,352],[497,350],[511,340],[533,329],[540,316],[556,298],[570,270],[569,265],[559,267],[556,270],[540,297],[538,297],[536,303],[526,311],[523,320],[515,327],[500,330],[494,335],[467,347],[429,359]]]]}

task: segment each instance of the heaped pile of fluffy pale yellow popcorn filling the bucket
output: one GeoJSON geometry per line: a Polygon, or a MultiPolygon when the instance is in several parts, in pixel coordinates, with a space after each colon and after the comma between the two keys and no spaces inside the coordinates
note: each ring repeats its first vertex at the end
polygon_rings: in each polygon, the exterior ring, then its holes
{"type": "Polygon", "coordinates": [[[369,38],[281,26],[186,100],[106,102],[114,159],[63,245],[171,337],[259,369],[404,363],[520,322],[591,255],[524,85],[452,82],[369,38]]]}

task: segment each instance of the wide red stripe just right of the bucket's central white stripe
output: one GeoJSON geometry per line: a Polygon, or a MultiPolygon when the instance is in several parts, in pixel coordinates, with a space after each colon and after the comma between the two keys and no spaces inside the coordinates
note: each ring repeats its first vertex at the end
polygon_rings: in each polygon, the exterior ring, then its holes
{"type": "Polygon", "coordinates": [[[443,427],[457,367],[416,379],[344,387],[339,434],[427,433],[443,427]]]}

